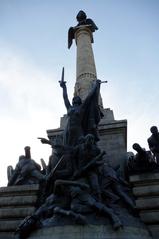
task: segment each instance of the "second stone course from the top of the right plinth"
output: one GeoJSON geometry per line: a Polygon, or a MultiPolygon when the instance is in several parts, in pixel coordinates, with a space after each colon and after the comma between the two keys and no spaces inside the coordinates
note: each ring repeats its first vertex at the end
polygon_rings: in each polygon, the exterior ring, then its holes
{"type": "Polygon", "coordinates": [[[159,185],[134,187],[133,193],[136,197],[159,196],[159,185]]]}

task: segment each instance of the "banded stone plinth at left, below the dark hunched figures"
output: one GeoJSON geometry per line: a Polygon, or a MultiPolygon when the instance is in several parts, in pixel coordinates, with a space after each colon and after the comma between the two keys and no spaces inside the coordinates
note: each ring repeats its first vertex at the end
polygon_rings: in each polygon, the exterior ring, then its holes
{"type": "Polygon", "coordinates": [[[0,188],[0,238],[14,238],[20,222],[35,210],[39,185],[0,188]]]}

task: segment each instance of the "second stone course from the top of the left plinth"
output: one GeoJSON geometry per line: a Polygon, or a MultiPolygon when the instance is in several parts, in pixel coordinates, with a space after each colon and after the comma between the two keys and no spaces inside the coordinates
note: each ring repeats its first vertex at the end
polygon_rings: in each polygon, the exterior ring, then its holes
{"type": "Polygon", "coordinates": [[[35,205],[37,195],[32,196],[1,196],[0,207],[35,205]]]}

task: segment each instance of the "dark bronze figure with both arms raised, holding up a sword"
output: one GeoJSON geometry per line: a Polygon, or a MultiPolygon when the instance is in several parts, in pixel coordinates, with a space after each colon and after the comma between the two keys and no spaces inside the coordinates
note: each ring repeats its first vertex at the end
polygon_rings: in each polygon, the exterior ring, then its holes
{"type": "Polygon", "coordinates": [[[102,117],[98,106],[100,83],[100,80],[95,81],[94,87],[83,103],[79,96],[75,96],[71,105],[67,95],[66,82],[60,81],[68,117],[64,130],[65,145],[77,145],[79,138],[88,133],[93,134],[96,141],[99,140],[97,126],[102,117]]]}

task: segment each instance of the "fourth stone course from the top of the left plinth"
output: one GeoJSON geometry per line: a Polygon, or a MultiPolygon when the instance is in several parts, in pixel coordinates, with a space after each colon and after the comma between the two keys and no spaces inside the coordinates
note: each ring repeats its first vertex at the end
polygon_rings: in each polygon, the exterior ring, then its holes
{"type": "MultiPolygon", "coordinates": [[[[0,232],[14,232],[23,219],[0,220],[0,232]]],[[[1,237],[0,237],[1,238],[1,237]]]]}

